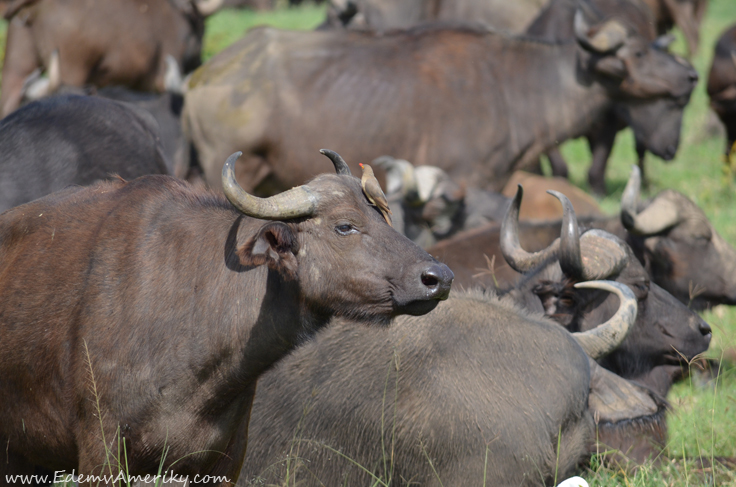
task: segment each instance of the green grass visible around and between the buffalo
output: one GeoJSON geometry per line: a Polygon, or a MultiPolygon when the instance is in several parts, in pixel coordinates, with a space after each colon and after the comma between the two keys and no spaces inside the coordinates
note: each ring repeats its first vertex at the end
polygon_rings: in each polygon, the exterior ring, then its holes
{"type": "MultiPolygon", "coordinates": [[[[270,24],[282,28],[312,29],[324,18],[324,7],[306,4],[297,9],[282,8],[274,12],[223,11],[207,22],[204,52],[209,58],[237,40],[250,27],[270,24]]],[[[698,203],[723,237],[736,245],[736,183],[724,171],[722,136],[706,131],[708,100],[705,78],[715,40],[729,24],[736,22],[736,1],[711,0],[702,28],[700,52],[693,64],[701,75],[692,101],[687,108],[682,143],[674,161],[666,163],[648,155],[647,170],[651,181],[649,193],[675,188],[698,203]]],[[[5,23],[0,23],[0,53],[4,53],[5,23]]],[[[684,52],[679,38],[673,47],[684,52]]],[[[586,174],[590,160],[587,144],[582,140],[566,143],[562,152],[570,163],[571,179],[587,189],[586,174]]],[[[619,135],[609,162],[609,196],[601,200],[603,208],[618,211],[618,201],[626,183],[629,168],[635,163],[633,137],[630,132],[619,135]]],[[[724,350],[736,349],[736,309],[718,307],[704,313],[713,327],[713,342],[708,356],[722,358],[724,350]]],[[[733,360],[733,359],[731,359],[733,360]]],[[[594,486],[736,486],[736,473],[722,467],[702,468],[683,457],[736,456],[736,366],[722,361],[717,380],[695,374],[677,385],[669,396],[673,405],[669,416],[670,440],[668,459],[658,466],[645,466],[635,473],[597,467],[595,459],[583,476],[594,486]]],[[[469,485],[474,483],[469,479],[469,485]]],[[[478,484],[480,481],[477,482],[478,484]]]]}

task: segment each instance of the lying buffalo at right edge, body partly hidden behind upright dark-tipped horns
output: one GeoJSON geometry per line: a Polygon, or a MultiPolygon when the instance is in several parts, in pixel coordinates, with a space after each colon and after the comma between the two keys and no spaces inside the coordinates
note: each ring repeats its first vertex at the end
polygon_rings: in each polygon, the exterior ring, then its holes
{"type": "MultiPolygon", "coordinates": [[[[633,168],[621,216],[587,218],[585,226],[625,240],[652,280],[690,307],[736,304],[736,249],[687,196],[665,190],[640,203],[640,184],[639,170],[633,168]]],[[[560,227],[557,222],[524,224],[519,232],[526,248],[540,250],[559,237],[560,227]]],[[[427,251],[448,264],[462,286],[503,286],[519,274],[505,264],[499,240],[500,227],[486,225],[458,233],[427,251]]]]}

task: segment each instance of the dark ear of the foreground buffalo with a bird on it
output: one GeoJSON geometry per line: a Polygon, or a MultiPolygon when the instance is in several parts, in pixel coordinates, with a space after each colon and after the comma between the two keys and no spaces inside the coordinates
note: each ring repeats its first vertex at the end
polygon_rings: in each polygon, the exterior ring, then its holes
{"type": "Polygon", "coordinates": [[[235,254],[244,266],[267,265],[287,279],[297,274],[296,253],[299,242],[285,223],[270,222],[263,225],[254,236],[238,246],[235,254]]]}

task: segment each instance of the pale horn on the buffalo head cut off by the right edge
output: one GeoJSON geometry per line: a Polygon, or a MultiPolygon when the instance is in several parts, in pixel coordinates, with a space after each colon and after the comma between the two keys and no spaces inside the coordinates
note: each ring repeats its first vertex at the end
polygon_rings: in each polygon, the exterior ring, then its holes
{"type": "Polygon", "coordinates": [[[621,223],[631,233],[654,235],[676,225],[680,221],[679,212],[670,201],[655,198],[641,214],[637,214],[641,172],[632,166],[629,181],[621,196],[621,223]]]}

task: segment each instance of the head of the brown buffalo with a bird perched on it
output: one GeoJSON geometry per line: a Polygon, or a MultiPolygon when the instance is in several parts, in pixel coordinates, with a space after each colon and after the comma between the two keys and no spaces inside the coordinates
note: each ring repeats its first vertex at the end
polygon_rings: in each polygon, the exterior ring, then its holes
{"type": "Polygon", "coordinates": [[[450,269],[398,234],[363,194],[360,180],[332,151],[337,174],[270,198],[246,193],[235,181],[230,156],[223,188],[245,215],[272,220],[235,254],[242,266],[266,265],[297,280],[315,315],[385,323],[398,314],[424,314],[446,299],[450,269]]]}

